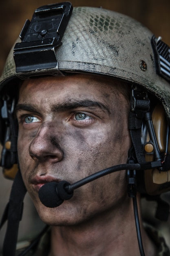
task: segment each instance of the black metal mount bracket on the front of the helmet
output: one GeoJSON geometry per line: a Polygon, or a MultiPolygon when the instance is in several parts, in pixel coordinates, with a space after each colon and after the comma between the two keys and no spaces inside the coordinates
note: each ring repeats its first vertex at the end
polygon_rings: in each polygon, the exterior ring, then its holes
{"type": "Polygon", "coordinates": [[[55,50],[62,44],[72,10],[70,2],[44,5],[35,10],[31,22],[26,20],[20,34],[22,42],[14,47],[16,76],[25,79],[46,74],[46,70],[64,76],[58,69],[55,50]]]}

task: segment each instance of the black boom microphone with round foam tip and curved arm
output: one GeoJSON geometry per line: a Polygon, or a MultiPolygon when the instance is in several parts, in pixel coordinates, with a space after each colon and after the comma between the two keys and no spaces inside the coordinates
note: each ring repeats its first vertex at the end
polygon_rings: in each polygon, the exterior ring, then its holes
{"type": "Polygon", "coordinates": [[[109,173],[114,173],[121,170],[140,170],[140,164],[119,164],[106,168],[102,171],[94,173],[82,180],[79,180],[73,184],[67,181],[60,182],[48,182],[44,184],[39,190],[39,198],[42,204],[46,207],[54,208],[62,204],[64,200],[72,198],[73,191],[80,186],[83,186],[93,180],[103,177],[109,173]]]}

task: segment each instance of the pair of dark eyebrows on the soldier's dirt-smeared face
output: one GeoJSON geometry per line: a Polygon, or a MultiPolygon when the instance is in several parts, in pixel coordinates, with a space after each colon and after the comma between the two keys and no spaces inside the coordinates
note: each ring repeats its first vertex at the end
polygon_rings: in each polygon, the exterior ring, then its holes
{"type": "MultiPolygon", "coordinates": [[[[62,104],[53,104],[51,106],[51,110],[52,112],[62,112],[62,111],[66,111],[66,110],[70,110],[70,109],[74,109],[74,108],[81,108],[81,107],[85,107],[85,108],[100,108],[101,110],[103,110],[104,112],[107,112],[108,114],[110,114],[110,110],[109,108],[104,105],[101,102],[98,101],[91,101],[91,100],[68,100],[68,102],[66,103],[62,103],[62,104]]],[[[17,104],[17,106],[15,107],[15,113],[17,113],[20,110],[25,110],[28,112],[34,112],[36,114],[40,114],[40,110],[32,104],[17,104]]]]}

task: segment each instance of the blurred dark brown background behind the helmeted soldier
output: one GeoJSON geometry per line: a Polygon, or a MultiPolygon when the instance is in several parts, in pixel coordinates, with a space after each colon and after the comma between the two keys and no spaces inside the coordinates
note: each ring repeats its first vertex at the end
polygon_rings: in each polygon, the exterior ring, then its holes
{"type": "MultiPolygon", "coordinates": [[[[0,0],[0,73],[25,20],[31,19],[37,7],[54,2],[56,0],[0,0]]],[[[170,45],[170,0],[72,0],[71,2],[73,7],[103,7],[131,16],[148,27],[155,36],[161,36],[162,40],[170,45]]],[[[4,180],[0,172],[0,217],[8,201],[11,184],[11,181],[4,180]]],[[[155,208],[155,206],[151,207],[155,208]]],[[[41,222],[27,195],[19,237],[29,238],[35,231],[39,231],[40,226],[41,222]]],[[[169,229],[168,226],[165,229],[169,229]]],[[[4,230],[0,233],[0,251],[4,230]]]]}

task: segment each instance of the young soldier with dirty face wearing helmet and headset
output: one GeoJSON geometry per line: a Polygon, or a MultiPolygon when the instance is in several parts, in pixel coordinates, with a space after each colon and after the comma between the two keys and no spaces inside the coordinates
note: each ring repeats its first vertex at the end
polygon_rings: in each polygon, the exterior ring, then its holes
{"type": "Polygon", "coordinates": [[[0,79],[1,166],[15,176],[3,256],[26,191],[47,227],[17,255],[169,256],[140,200],[167,219],[170,48],[120,13],[72,9],[36,9],[0,79]]]}

